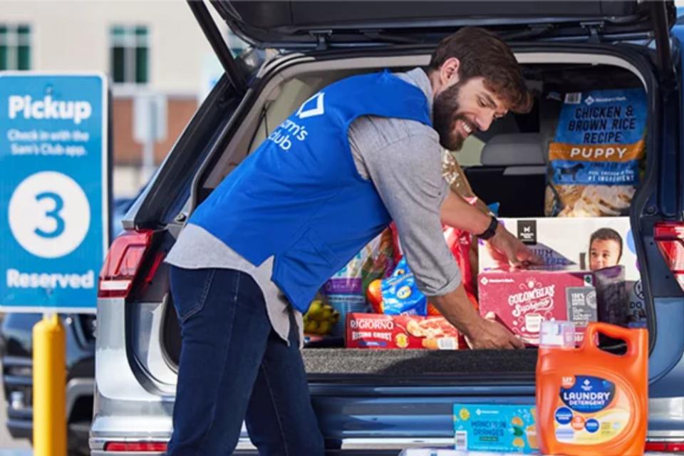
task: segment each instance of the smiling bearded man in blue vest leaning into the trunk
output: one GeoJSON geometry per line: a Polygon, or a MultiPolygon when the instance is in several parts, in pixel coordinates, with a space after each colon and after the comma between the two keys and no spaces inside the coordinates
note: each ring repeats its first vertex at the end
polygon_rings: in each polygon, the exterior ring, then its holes
{"type": "Polygon", "coordinates": [[[260,455],[323,455],[301,315],[392,221],[419,289],[472,348],[523,348],[473,309],[442,223],[512,264],[539,259],[450,190],[441,156],[531,105],[506,44],[463,28],[425,70],[337,81],[279,125],[199,204],[167,255],[182,330],[167,454],[229,455],[244,420],[260,455]]]}

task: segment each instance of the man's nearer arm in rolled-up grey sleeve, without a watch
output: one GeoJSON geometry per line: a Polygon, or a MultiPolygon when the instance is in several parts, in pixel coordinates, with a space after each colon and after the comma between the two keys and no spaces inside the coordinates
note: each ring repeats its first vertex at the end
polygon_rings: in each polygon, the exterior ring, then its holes
{"type": "Polygon", "coordinates": [[[368,147],[357,132],[353,129],[350,134],[352,148],[363,159],[368,176],[397,224],[406,260],[420,290],[466,335],[472,348],[522,348],[504,326],[477,314],[465,294],[460,270],[442,232],[440,207],[448,187],[442,178],[442,150],[436,134],[410,135],[368,147]]]}

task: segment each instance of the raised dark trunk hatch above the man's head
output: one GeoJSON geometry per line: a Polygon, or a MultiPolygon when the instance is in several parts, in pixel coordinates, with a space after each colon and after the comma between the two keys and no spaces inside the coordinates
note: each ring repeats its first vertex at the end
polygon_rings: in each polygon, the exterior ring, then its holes
{"type": "Polygon", "coordinates": [[[256,46],[274,48],[432,43],[462,26],[492,28],[512,39],[657,37],[676,15],[671,0],[399,1],[391,7],[386,1],[214,0],[212,4],[239,36],[256,46]],[[664,24],[655,20],[663,14],[664,24]]]}

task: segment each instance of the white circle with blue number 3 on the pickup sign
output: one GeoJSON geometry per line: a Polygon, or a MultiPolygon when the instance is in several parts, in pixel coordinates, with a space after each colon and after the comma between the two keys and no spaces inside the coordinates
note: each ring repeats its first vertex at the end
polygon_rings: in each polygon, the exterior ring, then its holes
{"type": "Polygon", "coordinates": [[[26,251],[41,258],[73,252],[90,229],[90,204],[78,183],[61,172],[37,172],[9,200],[9,227],[26,251]]]}

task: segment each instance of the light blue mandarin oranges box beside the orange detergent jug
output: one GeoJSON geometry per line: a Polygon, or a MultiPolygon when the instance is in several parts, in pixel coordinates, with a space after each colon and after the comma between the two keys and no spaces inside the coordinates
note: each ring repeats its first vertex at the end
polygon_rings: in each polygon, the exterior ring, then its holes
{"type": "Polygon", "coordinates": [[[454,404],[454,431],[456,450],[539,450],[532,405],[454,404]]]}

